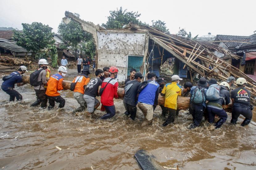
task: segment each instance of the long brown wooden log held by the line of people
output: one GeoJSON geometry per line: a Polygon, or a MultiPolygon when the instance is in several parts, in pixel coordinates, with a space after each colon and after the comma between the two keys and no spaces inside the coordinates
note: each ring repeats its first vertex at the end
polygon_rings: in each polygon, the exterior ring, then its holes
{"type": "MultiPolygon", "coordinates": [[[[46,78],[46,80],[48,81],[49,78],[46,78]]],[[[23,83],[29,83],[29,76],[22,76],[22,82],[23,83]]],[[[64,89],[70,89],[71,83],[72,83],[72,81],[64,80],[62,82],[63,88],[64,89]]],[[[124,97],[123,90],[124,90],[123,88],[118,88],[117,89],[117,94],[118,94],[118,96],[121,99],[123,99],[123,97],[124,97]]],[[[159,105],[164,105],[164,101],[165,101],[165,97],[161,96],[159,94],[159,96],[158,96],[158,104],[159,105]]],[[[230,111],[231,110],[231,104],[226,105],[226,106],[223,105],[222,107],[223,107],[223,109],[225,107],[226,111],[230,111]]],[[[188,108],[189,108],[189,97],[181,97],[181,96],[179,96],[178,100],[177,100],[177,109],[182,110],[182,109],[188,109],[188,108]]],[[[256,107],[255,107],[255,111],[256,111],[256,107]]]]}

